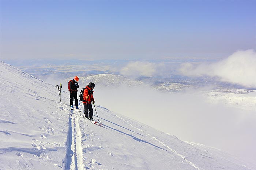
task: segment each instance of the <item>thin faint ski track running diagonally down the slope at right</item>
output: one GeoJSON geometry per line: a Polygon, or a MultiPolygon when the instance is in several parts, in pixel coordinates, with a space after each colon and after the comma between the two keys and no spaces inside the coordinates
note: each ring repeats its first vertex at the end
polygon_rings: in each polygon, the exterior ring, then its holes
{"type": "MultiPolygon", "coordinates": [[[[112,112],[113,113],[113,112],[112,112]]],[[[114,114],[114,113],[113,113],[114,114]]],[[[116,114],[114,114],[116,115],[116,114]]],[[[158,143],[160,143],[161,145],[167,147],[170,151],[172,151],[174,154],[178,155],[179,157],[181,157],[182,159],[184,159],[187,163],[189,163],[189,165],[193,166],[194,168],[198,169],[199,168],[192,162],[188,161],[188,159],[186,159],[183,155],[177,153],[177,151],[173,150],[172,148],[170,148],[169,146],[165,145],[163,142],[159,141],[157,138],[153,137],[152,135],[150,134],[147,134],[145,131],[133,126],[131,123],[129,123],[127,120],[123,119],[122,117],[116,115],[118,118],[122,119],[124,122],[128,123],[130,126],[132,126],[133,128],[135,129],[138,129],[139,131],[142,131],[144,134],[148,135],[150,138],[154,139],[155,141],[157,141],[158,143]]]]}

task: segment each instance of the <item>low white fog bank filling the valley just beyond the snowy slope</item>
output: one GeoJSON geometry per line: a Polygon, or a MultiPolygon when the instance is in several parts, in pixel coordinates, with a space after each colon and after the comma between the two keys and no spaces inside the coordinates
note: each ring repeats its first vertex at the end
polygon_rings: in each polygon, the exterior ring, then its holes
{"type": "Polygon", "coordinates": [[[199,91],[166,93],[147,86],[97,88],[94,98],[111,111],[181,140],[255,160],[255,110],[208,103],[199,91]]]}

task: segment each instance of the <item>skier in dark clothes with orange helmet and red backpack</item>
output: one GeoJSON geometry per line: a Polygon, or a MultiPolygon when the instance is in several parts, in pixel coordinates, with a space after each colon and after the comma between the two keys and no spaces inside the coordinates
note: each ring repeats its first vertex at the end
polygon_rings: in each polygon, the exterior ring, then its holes
{"type": "Polygon", "coordinates": [[[78,109],[78,98],[77,98],[77,89],[79,88],[78,85],[79,78],[78,76],[75,76],[73,80],[69,80],[68,82],[68,91],[70,96],[70,107],[73,109],[73,101],[75,99],[75,105],[78,109]]]}

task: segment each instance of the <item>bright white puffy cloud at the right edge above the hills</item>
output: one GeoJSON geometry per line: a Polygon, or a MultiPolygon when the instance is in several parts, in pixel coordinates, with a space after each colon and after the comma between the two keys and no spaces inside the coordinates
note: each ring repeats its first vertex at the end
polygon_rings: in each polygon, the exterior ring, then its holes
{"type": "Polygon", "coordinates": [[[254,50],[237,51],[216,63],[184,63],[179,69],[186,76],[210,76],[220,81],[256,87],[256,54],[254,50]]]}

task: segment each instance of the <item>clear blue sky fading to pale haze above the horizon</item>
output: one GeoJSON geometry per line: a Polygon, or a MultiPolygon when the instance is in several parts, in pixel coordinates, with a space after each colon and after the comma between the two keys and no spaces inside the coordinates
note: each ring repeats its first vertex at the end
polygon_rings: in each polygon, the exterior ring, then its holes
{"type": "Polygon", "coordinates": [[[256,46],[256,1],[0,2],[1,60],[212,59],[256,46]]]}

